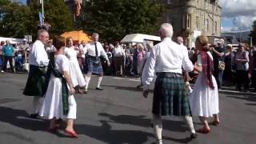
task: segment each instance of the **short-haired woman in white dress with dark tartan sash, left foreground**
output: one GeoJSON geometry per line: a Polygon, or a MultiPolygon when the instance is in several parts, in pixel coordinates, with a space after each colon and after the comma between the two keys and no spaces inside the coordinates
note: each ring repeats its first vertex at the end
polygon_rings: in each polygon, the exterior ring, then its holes
{"type": "Polygon", "coordinates": [[[78,138],[74,131],[74,119],[76,119],[77,104],[74,99],[74,86],[69,74],[69,59],[64,55],[65,38],[55,36],[54,46],[57,51],[51,58],[47,74],[50,81],[46,90],[40,116],[50,119],[49,131],[54,132],[60,126],[56,124],[56,119],[66,118],[67,126],[65,133],[71,138],[78,138]]]}

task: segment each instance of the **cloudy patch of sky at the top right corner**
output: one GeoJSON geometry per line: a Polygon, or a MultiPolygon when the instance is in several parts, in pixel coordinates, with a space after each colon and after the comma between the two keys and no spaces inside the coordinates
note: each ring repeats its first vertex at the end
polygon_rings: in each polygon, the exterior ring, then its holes
{"type": "Polygon", "coordinates": [[[222,18],[233,22],[234,30],[250,30],[256,20],[255,0],[219,0],[222,6],[222,18]]]}

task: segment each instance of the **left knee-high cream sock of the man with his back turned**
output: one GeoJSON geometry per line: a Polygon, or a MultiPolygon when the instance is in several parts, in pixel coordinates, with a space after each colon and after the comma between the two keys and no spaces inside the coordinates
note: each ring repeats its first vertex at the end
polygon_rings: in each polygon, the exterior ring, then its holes
{"type": "Polygon", "coordinates": [[[162,143],[162,120],[161,116],[153,114],[154,136],[158,143],[162,143]]]}

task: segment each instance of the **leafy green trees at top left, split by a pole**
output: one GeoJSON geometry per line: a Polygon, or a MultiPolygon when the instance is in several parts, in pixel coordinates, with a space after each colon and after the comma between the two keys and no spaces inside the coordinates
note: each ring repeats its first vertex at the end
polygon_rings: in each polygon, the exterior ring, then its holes
{"type": "MultiPolygon", "coordinates": [[[[62,34],[73,29],[72,16],[63,0],[44,0],[45,22],[51,25],[50,34],[62,34]]],[[[42,6],[38,0],[30,0],[29,6],[0,0],[0,35],[23,38],[25,34],[36,36],[38,12],[42,6]]]]}

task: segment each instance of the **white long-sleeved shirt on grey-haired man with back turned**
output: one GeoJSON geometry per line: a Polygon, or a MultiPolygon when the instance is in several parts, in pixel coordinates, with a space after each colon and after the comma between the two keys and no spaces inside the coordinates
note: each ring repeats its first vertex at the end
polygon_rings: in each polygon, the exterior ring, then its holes
{"type": "Polygon", "coordinates": [[[182,67],[186,71],[192,71],[194,66],[182,46],[173,42],[171,38],[164,38],[162,42],[154,46],[150,51],[150,58],[146,61],[145,72],[142,73],[142,83],[150,85],[154,73],[171,72],[182,74],[182,67]]]}

